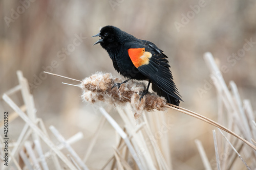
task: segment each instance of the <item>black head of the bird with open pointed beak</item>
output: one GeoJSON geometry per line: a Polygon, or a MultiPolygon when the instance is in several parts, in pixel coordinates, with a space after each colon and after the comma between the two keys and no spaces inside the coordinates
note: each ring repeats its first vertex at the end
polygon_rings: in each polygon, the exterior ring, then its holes
{"type": "Polygon", "coordinates": [[[105,26],[101,28],[100,32],[92,37],[100,37],[97,42],[93,45],[100,43],[103,48],[113,48],[117,47],[120,37],[122,36],[122,32],[119,28],[114,26],[105,26]]]}

